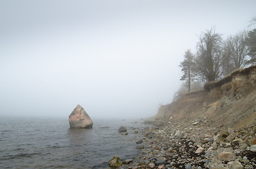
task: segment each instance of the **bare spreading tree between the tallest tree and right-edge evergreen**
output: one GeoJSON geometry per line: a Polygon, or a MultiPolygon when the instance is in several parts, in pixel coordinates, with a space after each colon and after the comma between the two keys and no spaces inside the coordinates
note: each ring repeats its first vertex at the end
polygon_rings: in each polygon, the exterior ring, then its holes
{"type": "Polygon", "coordinates": [[[224,49],[226,54],[229,55],[226,57],[231,59],[235,69],[245,65],[245,58],[249,51],[248,46],[246,46],[245,43],[246,36],[245,32],[240,32],[237,35],[230,36],[226,39],[224,49]]]}

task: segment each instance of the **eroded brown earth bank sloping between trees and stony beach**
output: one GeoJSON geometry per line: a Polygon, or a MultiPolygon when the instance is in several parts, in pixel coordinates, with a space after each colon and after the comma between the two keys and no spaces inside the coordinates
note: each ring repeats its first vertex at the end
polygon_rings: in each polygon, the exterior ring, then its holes
{"type": "MultiPolygon", "coordinates": [[[[198,123],[211,127],[253,127],[256,124],[256,65],[236,70],[204,89],[161,106],[157,121],[198,123]]],[[[157,122],[156,122],[157,123],[157,122]]]]}

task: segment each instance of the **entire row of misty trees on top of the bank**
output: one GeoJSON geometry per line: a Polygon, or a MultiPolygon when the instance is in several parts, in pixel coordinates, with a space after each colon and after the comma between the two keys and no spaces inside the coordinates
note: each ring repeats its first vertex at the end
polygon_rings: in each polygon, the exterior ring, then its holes
{"type": "Polygon", "coordinates": [[[190,92],[192,82],[209,82],[233,70],[256,63],[256,29],[239,32],[222,39],[214,27],[199,35],[197,51],[185,51],[180,63],[183,75],[180,80],[187,82],[190,92]]]}

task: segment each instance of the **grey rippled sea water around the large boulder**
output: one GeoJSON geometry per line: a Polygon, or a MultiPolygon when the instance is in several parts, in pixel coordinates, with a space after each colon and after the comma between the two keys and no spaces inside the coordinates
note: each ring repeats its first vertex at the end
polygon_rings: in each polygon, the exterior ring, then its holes
{"type": "Polygon", "coordinates": [[[69,129],[68,118],[1,118],[0,168],[104,168],[112,156],[135,158],[142,137],[134,130],[146,125],[134,121],[96,119],[92,129],[69,129]]]}

